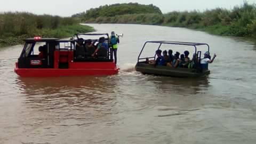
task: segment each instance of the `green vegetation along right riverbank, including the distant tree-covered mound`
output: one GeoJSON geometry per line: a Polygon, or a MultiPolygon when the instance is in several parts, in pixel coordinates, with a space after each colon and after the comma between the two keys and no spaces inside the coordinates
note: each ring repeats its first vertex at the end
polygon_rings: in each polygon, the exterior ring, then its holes
{"type": "MultiPolygon", "coordinates": [[[[97,9],[91,9],[84,13],[73,15],[73,17],[80,18],[82,22],[95,23],[137,23],[146,25],[162,25],[172,27],[185,27],[191,29],[198,29],[207,31],[211,34],[225,35],[225,36],[242,36],[256,38],[256,6],[255,4],[244,3],[241,6],[236,6],[232,10],[227,9],[213,9],[204,12],[169,12],[162,14],[158,7],[155,7],[150,12],[129,12],[129,4],[123,9],[123,5],[109,5],[101,6],[97,9]],[[106,11],[108,9],[122,10],[122,13],[116,11],[106,11]],[[157,10],[155,12],[154,10],[157,10]],[[91,15],[94,13],[100,13],[91,15]],[[111,13],[111,15],[109,15],[111,13]]],[[[136,5],[133,5],[136,6],[136,5]]],[[[139,4],[137,5],[139,7],[139,4]]]]}

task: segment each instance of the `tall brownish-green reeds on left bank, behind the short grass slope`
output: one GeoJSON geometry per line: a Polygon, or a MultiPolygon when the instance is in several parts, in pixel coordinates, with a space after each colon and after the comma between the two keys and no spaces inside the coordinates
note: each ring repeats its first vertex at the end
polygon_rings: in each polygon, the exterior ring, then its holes
{"type": "Polygon", "coordinates": [[[60,26],[75,25],[75,18],[61,18],[52,15],[31,13],[0,13],[0,37],[33,35],[38,29],[57,29],[60,26]]]}

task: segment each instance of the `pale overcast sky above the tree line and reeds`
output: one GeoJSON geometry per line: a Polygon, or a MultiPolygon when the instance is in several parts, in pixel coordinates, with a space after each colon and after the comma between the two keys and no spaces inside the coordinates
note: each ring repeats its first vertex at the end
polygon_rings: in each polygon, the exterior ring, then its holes
{"type": "MultiPolygon", "coordinates": [[[[75,13],[86,11],[100,5],[137,2],[140,4],[154,4],[163,13],[171,11],[191,11],[214,9],[223,7],[231,9],[234,6],[242,5],[244,0],[0,0],[0,12],[23,11],[35,14],[53,14],[60,16],[71,16],[75,13]]],[[[256,0],[248,0],[249,3],[256,3],[256,0]]]]}

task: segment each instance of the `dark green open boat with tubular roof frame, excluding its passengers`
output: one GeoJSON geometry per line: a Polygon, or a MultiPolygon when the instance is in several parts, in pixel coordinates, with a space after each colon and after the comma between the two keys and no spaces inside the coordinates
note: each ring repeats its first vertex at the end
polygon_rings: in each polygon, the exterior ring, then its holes
{"type": "Polygon", "coordinates": [[[202,67],[200,64],[202,51],[197,51],[197,46],[206,46],[207,51],[210,52],[210,46],[206,43],[190,43],[190,42],[174,42],[174,41],[147,41],[139,54],[138,62],[135,66],[135,70],[141,72],[142,74],[152,74],[161,76],[171,76],[171,77],[200,77],[210,74],[208,69],[208,64],[202,67]],[[147,63],[147,59],[156,60],[156,54],[154,57],[141,57],[143,50],[148,44],[157,44],[157,50],[161,49],[163,45],[185,45],[189,47],[194,47],[196,59],[194,59],[195,66],[193,68],[173,68],[168,66],[154,66],[147,63]]]}

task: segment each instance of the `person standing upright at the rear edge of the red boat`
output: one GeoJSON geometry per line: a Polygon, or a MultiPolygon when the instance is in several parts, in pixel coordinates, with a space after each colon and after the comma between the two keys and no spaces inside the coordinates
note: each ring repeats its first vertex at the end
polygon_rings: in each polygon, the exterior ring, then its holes
{"type": "Polygon", "coordinates": [[[117,44],[119,43],[119,38],[116,37],[115,31],[111,32],[110,37],[110,59],[113,59],[113,53],[115,58],[115,63],[117,62],[117,44]]]}

